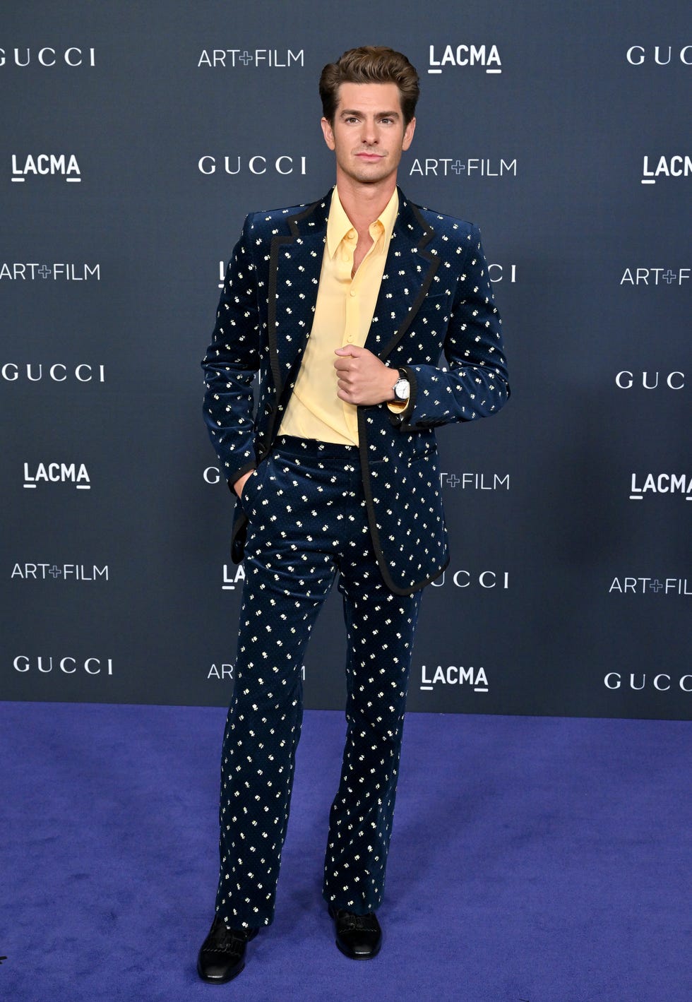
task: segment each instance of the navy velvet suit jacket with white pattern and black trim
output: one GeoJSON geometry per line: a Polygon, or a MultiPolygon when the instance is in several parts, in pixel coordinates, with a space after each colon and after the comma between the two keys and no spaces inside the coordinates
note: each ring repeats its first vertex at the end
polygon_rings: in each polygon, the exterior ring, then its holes
{"type": "MultiPolygon", "coordinates": [[[[312,325],[331,191],[247,216],[202,362],[204,419],[232,489],[269,454],[312,325]],[[258,402],[252,383],[258,374],[258,402]]],[[[509,397],[500,317],[476,226],[410,202],[399,213],[365,347],[406,370],[411,398],[358,408],[363,485],[388,587],[410,594],[449,563],[435,428],[499,411],[509,397]],[[440,366],[444,354],[446,365],[440,366]]],[[[231,556],[243,555],[236,504],[231,556]]]]}

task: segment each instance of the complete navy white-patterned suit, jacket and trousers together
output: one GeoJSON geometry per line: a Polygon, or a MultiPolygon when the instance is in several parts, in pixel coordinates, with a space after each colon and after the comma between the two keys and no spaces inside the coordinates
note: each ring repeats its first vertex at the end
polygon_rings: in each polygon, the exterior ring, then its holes
{"type": "Polygon", "coordinates": [[[204,417],[223,475],[232,488],[255,469],[231,543],[233,559],[244,556],[245,585],[221,761],[216,910],[230,928],[273,917],[302,653],[337,576],[348,733],[323,894],[357,914],[379,906],[421,589],[449,562],[435,428],[494,414],[509,396],[478,229],[400,190],[365,347],[392,367],[393,385],[406,371],[409,406],[397,414],[386,403],[360,406],[358,449],[281,436],[314,314],[330,197],[247,217],[202,363],[204,417]]]}

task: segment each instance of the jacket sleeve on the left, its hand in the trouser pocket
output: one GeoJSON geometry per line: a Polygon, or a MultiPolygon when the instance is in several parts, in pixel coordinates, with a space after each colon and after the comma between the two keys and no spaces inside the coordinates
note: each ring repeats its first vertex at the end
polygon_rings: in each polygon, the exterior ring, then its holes
{"type": "Polygon", "coordinates": [[[228,263],[211,344],[202,360],[204,422],[231,489],[255,466],[252,381],[259,368],[259,311],[251,229],[248,215],[228,263]]]}

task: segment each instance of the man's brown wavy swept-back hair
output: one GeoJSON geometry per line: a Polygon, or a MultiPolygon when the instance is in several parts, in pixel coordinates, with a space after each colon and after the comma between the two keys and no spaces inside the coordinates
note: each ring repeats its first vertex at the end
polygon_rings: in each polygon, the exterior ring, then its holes
{"type": "Polygon", "coordinates": [[[319,76],[322,114],[333,122],[342,83],[396,83],[402,102],[402,114],[408,125],[416,114],[421,93],[416,68],[401,52],[386,45],[362,45],[349,49],[334,63],[327,63],[319,76]]]}

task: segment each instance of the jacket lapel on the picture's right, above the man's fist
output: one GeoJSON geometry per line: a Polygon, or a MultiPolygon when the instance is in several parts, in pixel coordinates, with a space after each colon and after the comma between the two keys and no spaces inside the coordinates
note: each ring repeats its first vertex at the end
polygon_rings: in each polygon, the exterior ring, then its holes
{"type": "Polygon", "coordinates": [[[440,266],[439,257],[426,249],[432,236],[433,229],[399,188],[399,212],[366,340],[366,348],[383,360],[409,330],[440,266]]]}

